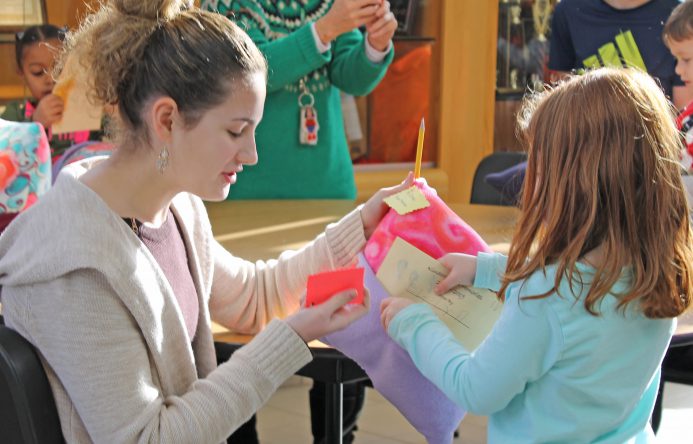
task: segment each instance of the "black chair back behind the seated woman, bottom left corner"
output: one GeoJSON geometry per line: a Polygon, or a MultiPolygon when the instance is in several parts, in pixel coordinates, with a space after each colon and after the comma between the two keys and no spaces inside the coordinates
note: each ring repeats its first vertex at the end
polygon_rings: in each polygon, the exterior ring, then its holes
{"type": "Polygon", "coordinates": [[[0,430],[2,442],[8,444],[64,442],[36,350],[5,325],[0,325],[0,430]]]}

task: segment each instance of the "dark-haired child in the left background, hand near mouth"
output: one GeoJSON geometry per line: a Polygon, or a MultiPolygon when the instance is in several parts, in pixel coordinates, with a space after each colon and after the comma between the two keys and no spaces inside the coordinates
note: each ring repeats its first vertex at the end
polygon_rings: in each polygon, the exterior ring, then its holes
{"type": "Polygon", "coordinates": [[[51,126],[63,115],[63,99],[53,94],[55,60],[62,50],[65,29],[54,25],[38,25],[16,35],[15,60],[17,73],[29,89],[31,99],[11,102],[0,116],[14,122],[34,121],[46,129],[51,156],[57,159],[71,145],[95,140],[99,133],[75,131],[52,134],[51,126]]]}

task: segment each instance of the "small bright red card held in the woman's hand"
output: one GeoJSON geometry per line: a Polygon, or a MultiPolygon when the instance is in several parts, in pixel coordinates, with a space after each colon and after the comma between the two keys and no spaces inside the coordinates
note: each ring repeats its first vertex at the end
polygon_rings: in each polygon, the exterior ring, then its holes
{"type": "Polygon", "coordinates": [[[350,304],[363,304],[363,268],[345,268],[308,276],[306,307],[322,304],[335,293],[356,290],[350,304]]]}

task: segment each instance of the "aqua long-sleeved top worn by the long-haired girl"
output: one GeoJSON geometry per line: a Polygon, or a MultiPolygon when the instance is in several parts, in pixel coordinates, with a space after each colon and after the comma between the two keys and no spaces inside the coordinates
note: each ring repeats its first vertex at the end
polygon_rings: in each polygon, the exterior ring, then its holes
{"type": "MultiPolygon", "coordinates": [[[[506,260],[480,253],[474,286],[498,290],[506,260]]],[[[584,284],[571,290],[564,279],[560,296],[520,300],[549,291],[555,266],[509,285],[500,319],[474,351],[425,304],[398,313],[388,333],[454,402],[489,416],[489,443],[654,442],[648,420],[676,321],[648,319],[637,304],[616,310],[628,270],[601,315],[590,315],[583,303],[595,270],[577,269],[584,284]]]]}

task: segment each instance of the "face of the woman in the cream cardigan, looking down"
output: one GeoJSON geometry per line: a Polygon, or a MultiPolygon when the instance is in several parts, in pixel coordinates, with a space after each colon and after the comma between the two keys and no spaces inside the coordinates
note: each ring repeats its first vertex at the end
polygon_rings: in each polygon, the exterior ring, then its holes
{"type": "Polygon", "coordinates": [[[257,163],[255,129],[265,94],[264,75],[253,74],[193,128],[174,123],[169,162],[180,189],[206,200],[228,196],[243,165],[257,163]]]}

